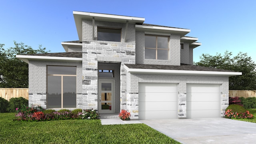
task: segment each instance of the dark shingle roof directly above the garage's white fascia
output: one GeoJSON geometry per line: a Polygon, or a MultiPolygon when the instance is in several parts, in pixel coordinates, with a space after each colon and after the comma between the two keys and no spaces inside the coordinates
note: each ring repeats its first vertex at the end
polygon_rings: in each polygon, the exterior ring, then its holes
{"type": "Polygon", "coordinates": [[[128,68],[155,69],[155,70],[193,70],[193,71],[213,71],[213,72],[234,72],[232,70],[222,70],[191,64],[180,64],[180,66],[153,65],[153,64],[125,64],[128,68]]]}

